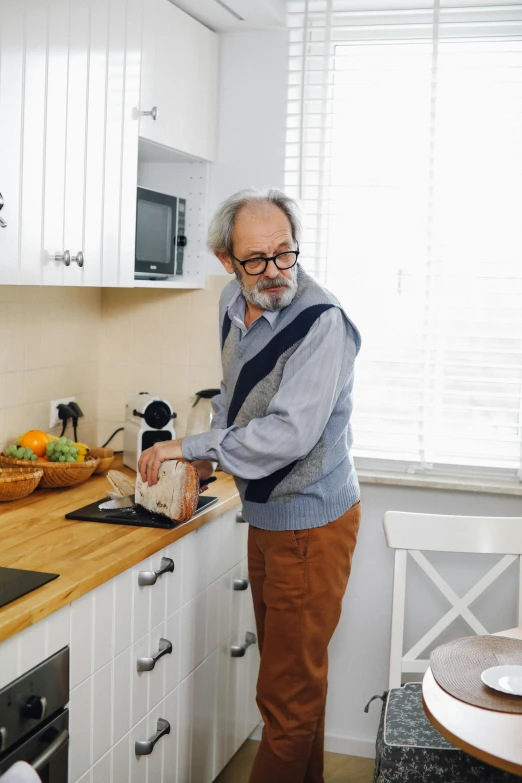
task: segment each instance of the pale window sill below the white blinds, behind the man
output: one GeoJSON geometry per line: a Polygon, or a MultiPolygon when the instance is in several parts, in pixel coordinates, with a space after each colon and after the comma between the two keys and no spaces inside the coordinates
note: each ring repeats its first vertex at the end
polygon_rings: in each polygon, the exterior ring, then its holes
{"type": "Polygon", "coordinates": [[[421,474],[386,473],[378,470],[357,470],[360,484],[387,484],[397,487],[423,487],[425,489],[449,489],[460,492],[485,492],[497,495],[522,495],[522,483],[501,479],[469,476],[427,476],[421,474]]]}

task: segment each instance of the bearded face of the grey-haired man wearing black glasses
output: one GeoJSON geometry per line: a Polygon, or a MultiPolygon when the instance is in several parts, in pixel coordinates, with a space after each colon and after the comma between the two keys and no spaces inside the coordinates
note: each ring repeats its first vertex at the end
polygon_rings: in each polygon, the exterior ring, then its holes
{"type": "MultiPolygon", "coordinates": [[[[234,226],[233,253],[240,261],[275,256],[295,250],[290,222],[273,204],[254,204],[237,215],[234,226]]],[[[234,273],[245,299],[261,310],[287,307],[297,290],[297,266],[278,269],[271,261],[263,274],[249,275],[228,254],[218,258],[229,273],[234,273]]]]}

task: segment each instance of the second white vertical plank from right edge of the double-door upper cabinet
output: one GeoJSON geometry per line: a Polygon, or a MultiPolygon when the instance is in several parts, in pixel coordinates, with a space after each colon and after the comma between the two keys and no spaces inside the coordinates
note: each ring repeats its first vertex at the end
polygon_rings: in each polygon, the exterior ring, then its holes
{"type": "Polygon", "coordinates": [[[103,285],[106,286],[118,285],[126,5],[125,0],[110,0],[102,236],[103,285]]]}

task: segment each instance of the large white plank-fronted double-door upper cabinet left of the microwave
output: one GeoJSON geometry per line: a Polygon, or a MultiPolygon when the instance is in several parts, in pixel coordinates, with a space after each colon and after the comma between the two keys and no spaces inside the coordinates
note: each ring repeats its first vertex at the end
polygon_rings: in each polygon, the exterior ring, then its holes
{"type": "Polygon", "coordinates": [[[141,13],[142,0],[2,9],[0,283],[133,285],[141,13]]]}

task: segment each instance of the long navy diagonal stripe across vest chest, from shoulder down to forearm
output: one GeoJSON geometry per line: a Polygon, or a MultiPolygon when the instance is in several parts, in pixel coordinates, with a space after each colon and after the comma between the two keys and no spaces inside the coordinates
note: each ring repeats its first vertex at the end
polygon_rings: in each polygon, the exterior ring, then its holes
{"type": "Polygon", "coordinates": [[[335,305],[318,304],[307,307],[306,310],[299,313],[285,329],[282,329],[276,334],[253,359],[250,359],[250,361],[243,365],[228,409],[228,427],[233,425],[236,416],[252,389],[257,386],[259,381],[266,378],[266,376],[272,372],[280,356],[291,348],[292,345],[295,345],[302,340],[303,337],[308,334],[319,316],[332,307],[335,307],[335,305]]]}

